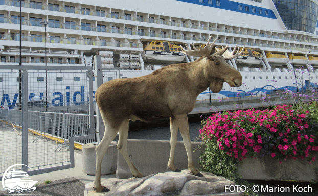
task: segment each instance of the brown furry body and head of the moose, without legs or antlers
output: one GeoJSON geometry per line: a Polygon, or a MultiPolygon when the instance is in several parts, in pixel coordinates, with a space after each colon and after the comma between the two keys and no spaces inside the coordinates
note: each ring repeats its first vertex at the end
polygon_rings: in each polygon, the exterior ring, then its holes
{"type": "Polygon", "coordinates": [[[192,111],[196,97],[209,86],[217,93],[224,78],[241,77],[222,60],[221,56],[215,61],[201,57],[192,63],[163,67],[146,76],[112,80],[98,88],[95,99],[113,128],[130,115],[152,121],[187,114],[192,111]],[[216,61],[226,64],[217,66],[216,61]]]}

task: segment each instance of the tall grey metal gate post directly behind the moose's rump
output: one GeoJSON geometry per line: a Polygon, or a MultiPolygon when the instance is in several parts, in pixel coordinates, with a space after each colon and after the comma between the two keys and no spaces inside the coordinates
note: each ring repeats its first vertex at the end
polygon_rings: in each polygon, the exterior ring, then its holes
{"type": "MultiPolygon", "coordinates": [[[[95,58],[96,58],[95,74],[97,77],[95,82],[96,82],[96,89],[98,89],[98,87],[103,84],[102,58],[100,55],[96,55],[95,58]]],[[[96,140],[97,142],[100,142],[102,140],[104,135],[104,130],[105,130],[105,126],[102,120],[102,116],[100,114],[98,107],[96,107],[96,140]]]]}

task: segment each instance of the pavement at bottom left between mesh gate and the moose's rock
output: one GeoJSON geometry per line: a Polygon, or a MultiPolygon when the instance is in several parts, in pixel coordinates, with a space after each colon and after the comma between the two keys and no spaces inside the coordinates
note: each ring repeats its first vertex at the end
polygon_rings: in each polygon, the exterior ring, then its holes
{"type": "MultiPolygon", "coordinates": [[[[34,181],[36,189],[29,193],[8,194],[0,189],[2,195],[35,195],[35,196],[82,196],[85,195],[85,185],[94,181],[95,176],[83,173],[82,151],[75,150],[75,167],[50,173],[30,176],[34,181]],[[50,181],[49,184],[44,182],[50,181]]],[[[116,174],[101,176],[102,179],[116,178],[116,174]]],[[[2,187],[2,186],[1,186],[2,187]]],[[[86,186],[87,187],[87,186],[86,186]]],[[[86,188],[87,189],[87,188],[86,188]]],[[[87,191],[86,191],[87,193],[87,191]]]]}

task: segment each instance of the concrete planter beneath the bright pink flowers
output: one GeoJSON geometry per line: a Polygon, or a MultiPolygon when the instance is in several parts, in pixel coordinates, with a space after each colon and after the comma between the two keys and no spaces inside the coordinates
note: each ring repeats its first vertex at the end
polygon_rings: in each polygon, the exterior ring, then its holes
{"type": "Polygon", "coordinates": [[[239,173],[244,179],[253,180],[298,180],[311,181],[317,179],[317,161],[309,164],[303,159],[287,159],[280,164],[271,156],[264,158],[246,158],[239,166],[239,173]]]}

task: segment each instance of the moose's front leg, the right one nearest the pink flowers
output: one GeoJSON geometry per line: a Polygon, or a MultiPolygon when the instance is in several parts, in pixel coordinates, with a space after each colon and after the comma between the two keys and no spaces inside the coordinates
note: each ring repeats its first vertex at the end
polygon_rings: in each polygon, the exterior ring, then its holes
{"type": "Polygon", "coordinates": [[[175,116],[177,125],[180,129],[181,136],[184,140],[185,148],[188,155],[188,167],[189,173],[195,176],[203,176],[199,170],[197,170],[193,164],[192,160],[192,151],[191,151],[191,140],[189,134],[189,124],[188,124],[188,116],[187,114],[175,116]]]}

